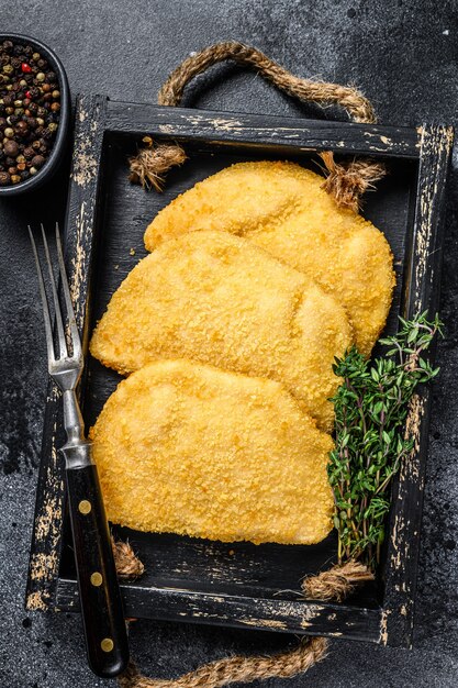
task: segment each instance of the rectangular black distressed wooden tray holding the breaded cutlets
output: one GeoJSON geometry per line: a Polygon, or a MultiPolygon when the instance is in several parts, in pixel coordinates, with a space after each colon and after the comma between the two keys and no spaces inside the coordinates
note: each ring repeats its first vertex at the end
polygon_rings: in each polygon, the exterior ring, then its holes
{"type": "MultiPolygon", "coordinates": [[[[399,313],[435,312],[451,143],[453,131],[445,126],[395,129],[80,97],[66,260],[85,351],[111,295],[146,255],[143,233],[160,208],[232,163],[287,158],[317,169],[315,151],[322,149],[382,156],[389,166],[389,176],[365,200],[365,215],[386,233],[395,256],[398,286],[387,331],[395,331],[399,313]],[[161,195],[146,193],[127,180],[126,158],[145,134],[179,140],[190,155],[169,174],[161,195]]],[[[88,357],[80,388],[88,426],[118,381],[115,373],[88,357]]],[[[389,537],[375,585],[343,604],[300,597],[302,577],[335,561],[335,535],[315,546],[255,546],[118,529],[146,565],[138,581],[122,586],[126,615],[410,645],[428,414],[429,391],[423,389],[409,418],[415,451],[393,488],[389,537]]],[[[56,451],[63,443],[59,418],[58,393],[51,386],[26,591],[30,610],[78,610],[64,467],[56,451]]]]}

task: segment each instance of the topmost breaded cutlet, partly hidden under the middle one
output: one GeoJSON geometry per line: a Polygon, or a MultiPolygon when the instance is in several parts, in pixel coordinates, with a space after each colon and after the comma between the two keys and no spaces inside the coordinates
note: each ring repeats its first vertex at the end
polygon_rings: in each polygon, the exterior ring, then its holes
{"type": "Polygon", "coordinates": [[[146,248],[196,230],[245,236],[334,295],[368,356],[391,307],[393,258],[384,235],[338,208],[322,185],[293,163],[238,163],[164,208],[146,230],[146,248]]]}

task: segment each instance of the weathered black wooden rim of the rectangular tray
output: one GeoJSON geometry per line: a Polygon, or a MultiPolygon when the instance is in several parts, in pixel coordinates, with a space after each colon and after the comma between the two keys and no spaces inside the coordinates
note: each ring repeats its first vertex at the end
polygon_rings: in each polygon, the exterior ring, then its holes
{"type": "MultiPolygon", "coordinates": [[[[94,256],[99,229],[107,211],[107,148],[111,142],[123,137],[139,143],[145,134],[201,146],[210,155],[237,149],[248,155],[291,157],[333,149],[342,154],[380,156],[389,164],[399,162],[404,165],[405,160],[405,169],[414,175],[415,181],[404,209],[407,234],[403,230],[404,254],[402,265],[398,265],[402,288],[395,311],[404,317],[424,310],[436,311],[443,246],[440,209],[453,144],[450,127],[399,129],[230,114],[81,96],[76,109],[66,262],[85,351],[93,322],[94,256]]],[[[400,169],[399,179],[404,174],[404,168],[400,169]]],[[[395,322],[395,314],[392,322],[395,322]]],[[[89,371],[81,384],[82,402],[90,375],[89,371]]],[[[415,437],[415,448],[403,464],[393,487],[389,539],[376,587],[342,604],[308,601],[297,592],[281,589],[281,580],[276,580],[275,585],[267,580],[264,587],[260,582],[262,576],[273,579],[277,567],[282,567],[282,575],[288,567],[308,573],[305,563],[301,569],[301,557],[304,562],[306,558],[303,547],[261,545],[256,548],[237,544],[234,545],[237,546],[234,559],[231,548],[220,543],[129,532],[142,558],[144,555],[147,558],[149,551],[159,554],[155,561],[146,562],[158,572],[153,582],[139,579],[122,585],[126,615],[411,645],[429,396],[428,388],[422,389],[411,404],[409,425],[415,437]],[[185,562],[181,569],[188,567],[188,573],[189,567],[194,569],[193,584],[186,581],[182,574],[179,579],[170,578],[167,566],[177,566],[177,561],[185,562]],[[220,577],[213,574],[209,577],[209,566],[219,569],[220,577]],[[261,575],[255,575],[253,570],[248,575],[246,572],[250,566],[261,575]],[[228,572],[227,580],[221,577],[224,570],[228,572]],[[202,585],[199,585],[199,572],[204,578],[202,585]]],[[[59,414],[59,396],[51,385],[27,578],[29,610],[78,610],[70,561],[71,539],[66,525],[64,468],[57,454],[62,443],[59,414]]],[[[313,551],[310,572],[329,566],[326,559],[329,546],[335,548],[332,539],[331,545],[327,543],[324,548],[317,546],[313,551]]],[[[299,590],[299,580],[293,579],[299,590]]]]}

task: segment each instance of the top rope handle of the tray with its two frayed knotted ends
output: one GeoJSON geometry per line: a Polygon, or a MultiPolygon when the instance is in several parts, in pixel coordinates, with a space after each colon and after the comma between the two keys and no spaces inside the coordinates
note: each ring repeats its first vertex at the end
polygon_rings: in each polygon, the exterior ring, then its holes
{"type": "MultiPolygon", "coordinates": [[[[373,124],[377,116],[370,101],[356,88],[304,79],[292,75],[288,69],[270,59],[255,47],[237,41],[211,45],[185,59],[168,77],[159,90],[159,106],[178,107],[190,81],[209,67],[226,59],[257,69],[265,79],[277,88],[303,102],[314,102],[322,107],[337,104],[344,108],[355,122],[373,124]]],[[[143,187],[154,187],[160,191],[164,177],[175,165],[181,165],[187,156],[177,143],[154,144],[147,136],[146,148],[138,151],[130,159],[131,181],[143,187]]],[[[326,169],[324,189],[334,196],[337,204],[357,211],[362,193],[372,188],[384,174],[384,166],[373,160],[351,160],[337,164],[331,151],[320,153],[326,169]]]]}

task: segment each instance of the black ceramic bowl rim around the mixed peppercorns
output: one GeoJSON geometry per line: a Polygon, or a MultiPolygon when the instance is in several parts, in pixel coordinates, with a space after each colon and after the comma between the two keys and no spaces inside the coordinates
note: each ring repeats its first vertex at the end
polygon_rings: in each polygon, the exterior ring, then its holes
{"type": "Polygon", "coordinates": [[[41,41],[21,34],[0,33],[0,43],[3,43],[3,41],[12,41],[13,43],[31,45],[36,48],[37,53],[41,53],[43,57],[47,59],[53,70],[56,73],[59,84],[60,119],[51,155],[40,171],[33,177],[25,179],[25,181],[0,187],[0,198],[5,196],[19,196],[25,191],[34,191],[37,187],[42,186],[42,184],[48,181],[51,177],[53,177],[65,155],[65,144],[70,123],[70,91],[68,88],[67,75],[57,55],[55,55],[55,53],[53,53],[53,51],[41,41]]]}

